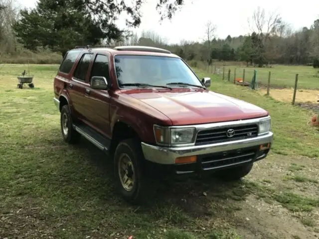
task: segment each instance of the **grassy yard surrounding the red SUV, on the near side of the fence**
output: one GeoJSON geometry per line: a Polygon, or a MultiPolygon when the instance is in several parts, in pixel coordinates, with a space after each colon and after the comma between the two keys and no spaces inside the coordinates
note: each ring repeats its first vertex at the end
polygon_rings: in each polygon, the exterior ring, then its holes
{"type": "Polygon", "coordinates": [[[209,74],[212,91],[269,111],[271,154],[241,182],[166,182],[148,205],[134,207],[114,193],[102,152],[85,139],[63,142],[52,102],[57,65],[31,65],[35,88],[20,90],[16,76],[24,69],[0,65],[0,238],[318,237],[319,131],[307,125],[312,112],[209,74]]]}

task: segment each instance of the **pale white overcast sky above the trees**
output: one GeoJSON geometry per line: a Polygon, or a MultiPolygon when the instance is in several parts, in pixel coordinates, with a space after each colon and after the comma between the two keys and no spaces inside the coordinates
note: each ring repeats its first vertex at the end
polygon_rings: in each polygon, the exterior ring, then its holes
{"type": "MultiPolygon", "coordinates": [[[[34,7],[36,0],[18,0],[21,6],[34,7]]],[[[181,40],[200,40],[205,24],[211,20],[216,25],[216,36],[226,38],[227,35],[247,34],[249,26],[247,18],[260,6],[266,12],[276,11],[284,21],[294,29],[310,27],[319,18],[319,0],[185,0],[186,4],[173,16],[171,21],[160,23],[160,15],[156,11],[157,0],[148,0],[143,8],[142,24],[136,32],[154,30],[165,37],[169,43],[181,40]]],[[[124,27],[124,21],[119,25],[124,27]]]]}

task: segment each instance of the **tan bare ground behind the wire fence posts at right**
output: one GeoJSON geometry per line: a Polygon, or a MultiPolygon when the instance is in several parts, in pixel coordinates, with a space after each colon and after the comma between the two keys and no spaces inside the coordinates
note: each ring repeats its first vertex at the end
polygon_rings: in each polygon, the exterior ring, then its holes
{"type": "MultiPolygon", "coordinates": [[[[264,95],[267,93],[267,89],[261,88],[259,91],[264,95]]],[[[286,88],[286,89],[270,89],[270,96],[278,101],[283,102],[292,102],[294,89],[286,88]]],[[[318,104],[319,100],[319,90],[298,90],[296,94],[296,102],[310,102],[313,104],[318,104]]]]}

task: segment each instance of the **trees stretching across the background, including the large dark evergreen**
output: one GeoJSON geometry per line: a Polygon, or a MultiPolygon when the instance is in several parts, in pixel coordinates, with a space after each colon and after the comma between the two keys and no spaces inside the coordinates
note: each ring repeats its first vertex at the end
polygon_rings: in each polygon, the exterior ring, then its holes
{"type": "MultiPolygon", "coordinates": [[[[187,0],[157,0],[160,19],[172,18],[187,0]]],[[[319,67],[319,19],[311,26],[293,30],[280,14],[257,8],[247,24],[250,33],[217,38],[211,21],[201,41],[168,44],[152,31],[138,35],[143,0],[131,5],[114,0],[38,0],[33,9],[18,9],[13,0],[0,0],[0,54],[18,47],[31,51],[50,49],[62,56],[76,45],[113,44],[162,47],[186,61],[242,61],[247,65],[312,64],[319,67]],[[114,22],[127,14],[127,28],[114,22]]]]}

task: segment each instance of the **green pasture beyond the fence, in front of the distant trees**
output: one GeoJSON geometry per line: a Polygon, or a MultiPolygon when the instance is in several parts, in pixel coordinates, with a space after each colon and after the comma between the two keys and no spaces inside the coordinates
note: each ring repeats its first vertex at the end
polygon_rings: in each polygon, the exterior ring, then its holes
{"type": "MultiPolygon", "coordinates": [[[[245,81],[247,82],[251,82],[256,69],[257,82],[264,85],[268,84],[269,72],[271,72],[270,84],[272,87],[294,87],[296,74],[299,74],[298,89],[319,89],[319,78],[316,77],[318,69],[316,70],[311,66],[273,65],[272,68],[225,66],[225,80],[228,80],[228,70],[230,69],[230,81],[234,81],[235,68],[236,78],[243,78],[243,70],[245,69],[245,81]]],[[[222,71],[223,66],[220,66],[219,78],[222,78],[222,71]]],[[[211,73],[211,68],[208,72],[211,73]]]]}

